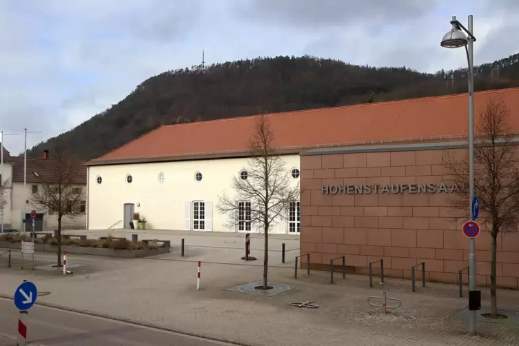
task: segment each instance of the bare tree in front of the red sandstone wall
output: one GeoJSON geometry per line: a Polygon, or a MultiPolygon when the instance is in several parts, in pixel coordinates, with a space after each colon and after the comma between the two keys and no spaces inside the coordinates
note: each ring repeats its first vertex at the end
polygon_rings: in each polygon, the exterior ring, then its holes
{"type": "MultiPolygon", "coordinates": [[[[496,250],[499,232],[518,231],[519,222],[519,151],[512,142],[510,110],[496,97],[489,99],[480,113],[474,143],[474,190],[480,199],[480,218],[491,232],[491,313],[497,314],[496,250]]],[[[451,207],[469,216],[469,162],[467,157],[447,155],[446,167],[460,187],[459,196],[449,201],[451,207]]]]}

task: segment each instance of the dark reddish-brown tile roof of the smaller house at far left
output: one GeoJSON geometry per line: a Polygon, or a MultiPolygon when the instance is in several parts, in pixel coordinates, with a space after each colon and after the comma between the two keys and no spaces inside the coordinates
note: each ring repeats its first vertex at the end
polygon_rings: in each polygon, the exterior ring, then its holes
{"type": "MultiPolygon", "coordinates": [[[[12,162],[12,181],[13,183],[23,183],[23,157],[11,156],[9,159],[12,162]]],[[[77,174],[70,183],[78,185],[86,185],[87,170],[84,161],[70,161],[76,165],[74,170],[77,174]]],[[[69,167],[68,165],[66,167],[69,167]]],[[[27,158],[27,183],[57,183],[58,177],[58,161],[53,159],[36,159],[32,157],[27,158]],[[34,174],[36,172],[38,175],[34,174]]]]}

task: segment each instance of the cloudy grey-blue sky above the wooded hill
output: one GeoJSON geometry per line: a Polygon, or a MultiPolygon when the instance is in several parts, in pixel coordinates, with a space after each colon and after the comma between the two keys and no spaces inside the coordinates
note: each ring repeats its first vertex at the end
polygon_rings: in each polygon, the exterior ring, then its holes
{"type": "Polygon", "coordinates": [[[0,0],[0,129],[12,154],[70,130],[145,79],[201,63],[314,55],[435,72],[474,14],[476,64],[519,52],[519,0],[0,0]],[[454,5],[453,5],[454,4],[454,5]]]}

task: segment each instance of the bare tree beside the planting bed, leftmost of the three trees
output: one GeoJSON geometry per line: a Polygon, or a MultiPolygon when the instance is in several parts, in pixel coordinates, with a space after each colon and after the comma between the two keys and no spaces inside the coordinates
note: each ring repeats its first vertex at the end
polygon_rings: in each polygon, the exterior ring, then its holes
{"type": "Polygon", "coordinates": [[[37,209],[57,215],[57,265],[61,267],[61,223],[63,218],[75,218],[80,214],[79,205],[85,194],[78,184],[78,176],[84,167],[81,161],[72,159],[61,143],[55,147],[52,157],[49,159],[52,168],[42,176],[41,188],[32,194],[30,201],[37,209]]]}

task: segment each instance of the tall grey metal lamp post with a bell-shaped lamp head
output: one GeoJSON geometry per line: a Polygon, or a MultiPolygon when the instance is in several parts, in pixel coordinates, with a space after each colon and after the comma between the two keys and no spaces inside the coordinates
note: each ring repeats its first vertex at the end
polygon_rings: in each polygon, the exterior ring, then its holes
{"type": "MultiPolygon", "coordinates": [[[[474,28],[471,15],[469,15],[468,29],[456,20],[455,16],[452,17],[451,24],[452,29],[445,34],[440,45],[445,48],[465,47],[465,52],[467,52],[467,61],[469,63],[469,201],[472,201],[474,197],[474,41],[476,41],[476,37],[473,34],[474,28]],[[466,32],[467,35],[463,32],[466,32]]],[[[474,221],[470,203],[469,210],[470,218],[474,221]]],[[[476,239],[470,238],[469,309],[471,296],[473,295],[476,297],[476,239]]],[[[471,309],[469,316],[469,334],[474,336],[476,335],[476,310],[471,309]]]]}

